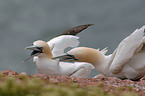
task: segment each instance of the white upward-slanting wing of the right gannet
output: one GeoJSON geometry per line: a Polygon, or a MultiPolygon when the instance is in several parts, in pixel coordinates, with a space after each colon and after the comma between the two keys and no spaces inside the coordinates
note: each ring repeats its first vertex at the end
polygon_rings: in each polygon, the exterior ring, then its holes
{"type": "Polygon", "coordinates": [[[122,40],[113,52],[110,66],[110,70],[113,74],[119,73],[122,67],[132,58],[140,44],[143,45],[144,29],[145,26],[136,29],[131,35],[122,40]]]}

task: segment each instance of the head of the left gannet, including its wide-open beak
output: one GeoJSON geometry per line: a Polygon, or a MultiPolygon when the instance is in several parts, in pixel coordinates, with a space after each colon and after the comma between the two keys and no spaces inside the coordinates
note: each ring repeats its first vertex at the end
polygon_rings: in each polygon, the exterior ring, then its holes
{"type": "Polygon", "coordinates": [[[42,40],[37,40],[35,42],[33,42],[32,46],[28,46],[25,49],[29,49],[29,50],[33,50],[30,57],[28,57],[25,61],[27,61],[28,59],[34,57],[34,56],[47,56],[48,58],[52,58],[52,53],[50,50],[49,45],[42,40]]]}

